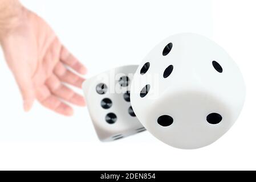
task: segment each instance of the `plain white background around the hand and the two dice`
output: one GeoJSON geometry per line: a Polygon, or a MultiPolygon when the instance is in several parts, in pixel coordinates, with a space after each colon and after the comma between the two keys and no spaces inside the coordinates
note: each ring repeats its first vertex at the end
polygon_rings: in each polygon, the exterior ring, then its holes
{"type": "MultiPolygon", "coordinates": [[[[101,143],[87,108],[70,118],[38,103],[30,113],[0,52],[0,169],[256,169],[256,2],[254,0],[22,1],[88,67],[90,77],[139,64],[169,35],[196,32],[221,44],[247,85],[245,107],[216,143],[179,150],[148,132],[101,143]]],[[[82,93],[82,92],[81,92],[82,93]]]]}

